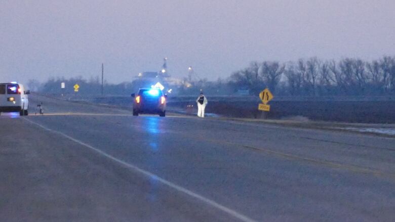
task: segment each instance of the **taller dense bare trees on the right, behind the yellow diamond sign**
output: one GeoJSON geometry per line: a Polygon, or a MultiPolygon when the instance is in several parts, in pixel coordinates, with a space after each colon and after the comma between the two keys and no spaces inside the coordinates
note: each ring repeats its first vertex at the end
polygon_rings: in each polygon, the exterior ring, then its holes
{"type": "Polygon", "coordinates": [[[388,95],[395,94],[395,58],[344,58],[322,61],[317,57],[296,62],[251,62],[233,72],[229,83],[256,95],[262,86],[279,95],[388,95]]]}

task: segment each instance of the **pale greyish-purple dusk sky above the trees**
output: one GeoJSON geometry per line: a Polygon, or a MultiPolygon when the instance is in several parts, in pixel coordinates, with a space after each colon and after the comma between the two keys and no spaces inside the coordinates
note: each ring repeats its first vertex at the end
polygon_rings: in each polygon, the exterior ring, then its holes
{"type": "Polygon", "coordinates": [[[395,55],[389,0],[0,0],[0,82],[158,71],[226,78],[251,61],[395,55]]]}

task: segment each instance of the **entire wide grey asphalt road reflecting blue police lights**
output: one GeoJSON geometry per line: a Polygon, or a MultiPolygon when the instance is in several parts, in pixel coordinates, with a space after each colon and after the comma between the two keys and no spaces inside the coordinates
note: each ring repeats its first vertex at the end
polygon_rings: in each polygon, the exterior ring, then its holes
{"type": "Polygon", "coordinates": [[[37,95],[0,116],[0,221],[393,221],[395,140],[37,95]]]}

